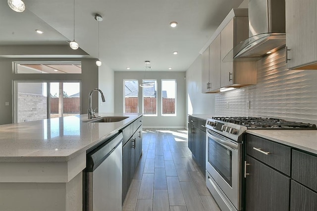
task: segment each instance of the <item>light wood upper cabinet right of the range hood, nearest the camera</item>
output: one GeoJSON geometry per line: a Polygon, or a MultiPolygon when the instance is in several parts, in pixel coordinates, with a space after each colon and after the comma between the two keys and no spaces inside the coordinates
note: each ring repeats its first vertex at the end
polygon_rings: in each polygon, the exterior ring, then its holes
{"type": "Polygon", "coordinates": [[[287,68],[317,70],[317,0],[286,0],[287,68]]]}

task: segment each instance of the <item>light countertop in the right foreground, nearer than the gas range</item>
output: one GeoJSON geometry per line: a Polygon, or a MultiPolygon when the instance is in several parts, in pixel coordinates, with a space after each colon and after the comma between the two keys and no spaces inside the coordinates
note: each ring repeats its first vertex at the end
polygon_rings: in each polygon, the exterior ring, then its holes
{"type": "Polygon", "coordinates": [[[317,130],[247,130],[247,133],[317,155],[317,130]]]}

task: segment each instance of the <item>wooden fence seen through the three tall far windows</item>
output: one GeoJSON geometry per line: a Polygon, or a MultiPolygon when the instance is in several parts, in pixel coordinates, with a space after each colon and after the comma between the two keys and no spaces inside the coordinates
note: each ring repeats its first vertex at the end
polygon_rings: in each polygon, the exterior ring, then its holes
{"type": "MultiPolygon", "coordinates": [[[[175,99],[163,98],[162,99],[162,114],[175,114],[175,99]]],[[[156,114],[157,99],[144,98],[144,114],[156,114]]],[[[138,112],[138,98],[125,98],[125,112],[137,113],[138,112]]]]}

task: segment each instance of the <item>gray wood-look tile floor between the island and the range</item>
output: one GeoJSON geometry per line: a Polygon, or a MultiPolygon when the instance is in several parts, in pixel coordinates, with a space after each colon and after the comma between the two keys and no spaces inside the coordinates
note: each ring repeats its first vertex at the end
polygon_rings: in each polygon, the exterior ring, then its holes
{"type": "Polygon", "coordinates": [[[185,129],[143,129],[123,211],[220,211],[192,158],[185,129]]]}

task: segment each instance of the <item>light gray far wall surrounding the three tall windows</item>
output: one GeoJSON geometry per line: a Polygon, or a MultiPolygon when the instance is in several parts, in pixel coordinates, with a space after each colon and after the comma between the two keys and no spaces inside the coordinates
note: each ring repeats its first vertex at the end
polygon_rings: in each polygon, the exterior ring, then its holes
{"type": "MultiPolygon", "coordinates": [[[[114,72],[114,112],[123,112],[123,79],[137,79],[139,84],[145,72],[114,72]]],[[[146,72],[146,79],[158,81],[158,116],[145,116],[145,128],[184,128],[185,127],[185,72],[146,72]],[[176,116],[161,116],[161,79],[176,79],[176,116]]],[[[141,88],[141,87],[140,87],[141,88]]],[[[142,112],[142,89],[139,89],[139,112],[142,112]]],[[[186,117],[187,118],[187,117],[186,117]]]]}

